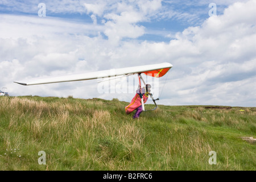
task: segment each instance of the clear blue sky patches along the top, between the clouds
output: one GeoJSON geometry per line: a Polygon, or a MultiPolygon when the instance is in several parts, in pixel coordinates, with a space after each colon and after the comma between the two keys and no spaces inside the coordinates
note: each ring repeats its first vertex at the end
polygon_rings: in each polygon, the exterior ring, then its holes
{"type": "MultiPolygon", "coordinates": [[[[140,11],[142,8],[138,6],[139,3],[133,1],[3,1],[0,3],[1,14],[11,15],[25,15],[25,16],[38,16],[39,3],[46,5],[46,16],[61,18],[72,22],[91,23],[93,20],[90,17],[93,14],[93,10],[86,9],[84,3],[89,4],[92,2],[100,4],[101,2],[108,2],[111,7],[110,10],[102,10],[104,13],[113,13],[120,15],[122,12],[118,12],[118,3],[125,4],[127,6],[133,6],[134,11],[140,11]],[[71,3],[72,2],[72,3],[71,3]]],[[[138,1],[139,2],[139,1],[138,1]]],[[[154,1],[144,1],[154,2],[154,1]]],[[[152,13],[146,13],[146,17],[143,20],[134,22],[138,26],[145,27],[145,32],[142,36],[139,36],[139,40],[152,40],[156,42],[170,41],[167,35],[175,34],[178,31],[183,31],[189,26],[200,26],[205,19],[209,18],[208,12],[211,9],[209,3],[212,1],[155,1],[162,5],[160,10],[152,13]]],[[[123,5],[123,6],[125,6],[123,5]]],[[[152,5],[154,6],[154,4],[152,5]]],[[[223,13],[226,4],[218,4],[217,14],[223,13]]],[[[97,23],[103,24],[103,21],[107,19],[103,14],[96,14],[97,23]]]]}

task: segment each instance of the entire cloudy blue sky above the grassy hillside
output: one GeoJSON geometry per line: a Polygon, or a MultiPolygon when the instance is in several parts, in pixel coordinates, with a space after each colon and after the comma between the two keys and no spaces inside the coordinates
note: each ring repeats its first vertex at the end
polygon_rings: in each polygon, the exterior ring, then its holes
{"type": "Polygon", "coordinates": [[[255,106],[255,22],[253,0],[1,1],[0,87],[13,96],[129,102],[134,93],[102,94],[97,81],[13,81],[168,62],[159,104],[255,106]]]}

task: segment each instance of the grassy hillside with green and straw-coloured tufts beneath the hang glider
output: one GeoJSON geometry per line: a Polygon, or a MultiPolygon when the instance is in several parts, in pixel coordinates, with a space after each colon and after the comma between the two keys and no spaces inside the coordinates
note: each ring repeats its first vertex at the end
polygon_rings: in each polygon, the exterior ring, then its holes
{"type": "Polygon", "coordinates": [[[256,170],[256,144],[240,138],[256,138],[256,107],[160,105],[134,120],[115,99],[0,103],[0,170],[256,170]]]}

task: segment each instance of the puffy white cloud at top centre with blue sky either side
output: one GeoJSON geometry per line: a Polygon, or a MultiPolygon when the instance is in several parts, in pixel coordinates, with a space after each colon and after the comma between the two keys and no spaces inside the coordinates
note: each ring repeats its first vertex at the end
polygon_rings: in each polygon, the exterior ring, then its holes
{"type": "Polygon", "coordinates": [[[102,18],[106,27],[104,34],[113,45],[118,45],[123,38],[135,39],[144,35],[145,28],[138,23],[149,21],[162,7],[162,0],[113,2],[84,3],[86,14],[102,18]]]}

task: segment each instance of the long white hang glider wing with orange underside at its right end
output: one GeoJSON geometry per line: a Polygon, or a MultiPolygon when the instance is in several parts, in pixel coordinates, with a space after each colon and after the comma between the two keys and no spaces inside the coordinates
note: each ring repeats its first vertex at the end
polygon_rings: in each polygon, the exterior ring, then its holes
{"type": "Polygon", "coordinates": [[[162,77],[171,68],[172,68],[172,64],[170,63],[160,63],[160,64],[143,65],[138,67],[109,69],[105,71],[81,73],[76,75],[65,75],[65,76],[57,76],[57,77],[39,77],[39,78],[32,78],[27,81],[14,81],[14,82],[21,85],[39,85],[39,84],[51,84],[51,83],[66,82],[66,81],[92,80],[97,78],[106,78],[106,77],[114,77],[114,76],[121,76],[121,75],[134,75],[138,73],[144,73],[148,76],[153,76],[153,77],[162,77]]]}

